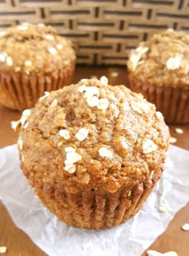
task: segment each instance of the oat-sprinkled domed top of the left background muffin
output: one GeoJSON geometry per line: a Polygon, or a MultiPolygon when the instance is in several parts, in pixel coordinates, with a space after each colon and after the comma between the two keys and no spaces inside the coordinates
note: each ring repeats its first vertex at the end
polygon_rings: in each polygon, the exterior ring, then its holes
{"type": "Polygon", "coordinates": [[[53,27],[24,23],[0,32],[0,70],[26,75],[57,72],[74,60],[70,41],[57,35],[53,27]]]}

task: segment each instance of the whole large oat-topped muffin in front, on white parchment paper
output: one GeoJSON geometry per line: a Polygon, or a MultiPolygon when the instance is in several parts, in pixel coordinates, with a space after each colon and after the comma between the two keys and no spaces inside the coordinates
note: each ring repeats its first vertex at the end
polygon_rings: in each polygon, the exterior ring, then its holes
{"type": "Polygon", "coordinates": [[[78,228],[134,216],[166,158],[169,131],[155,105],[107,83],[82,79],[53,91],[14,123],[23,174],[47,209],[78,228]]]}

